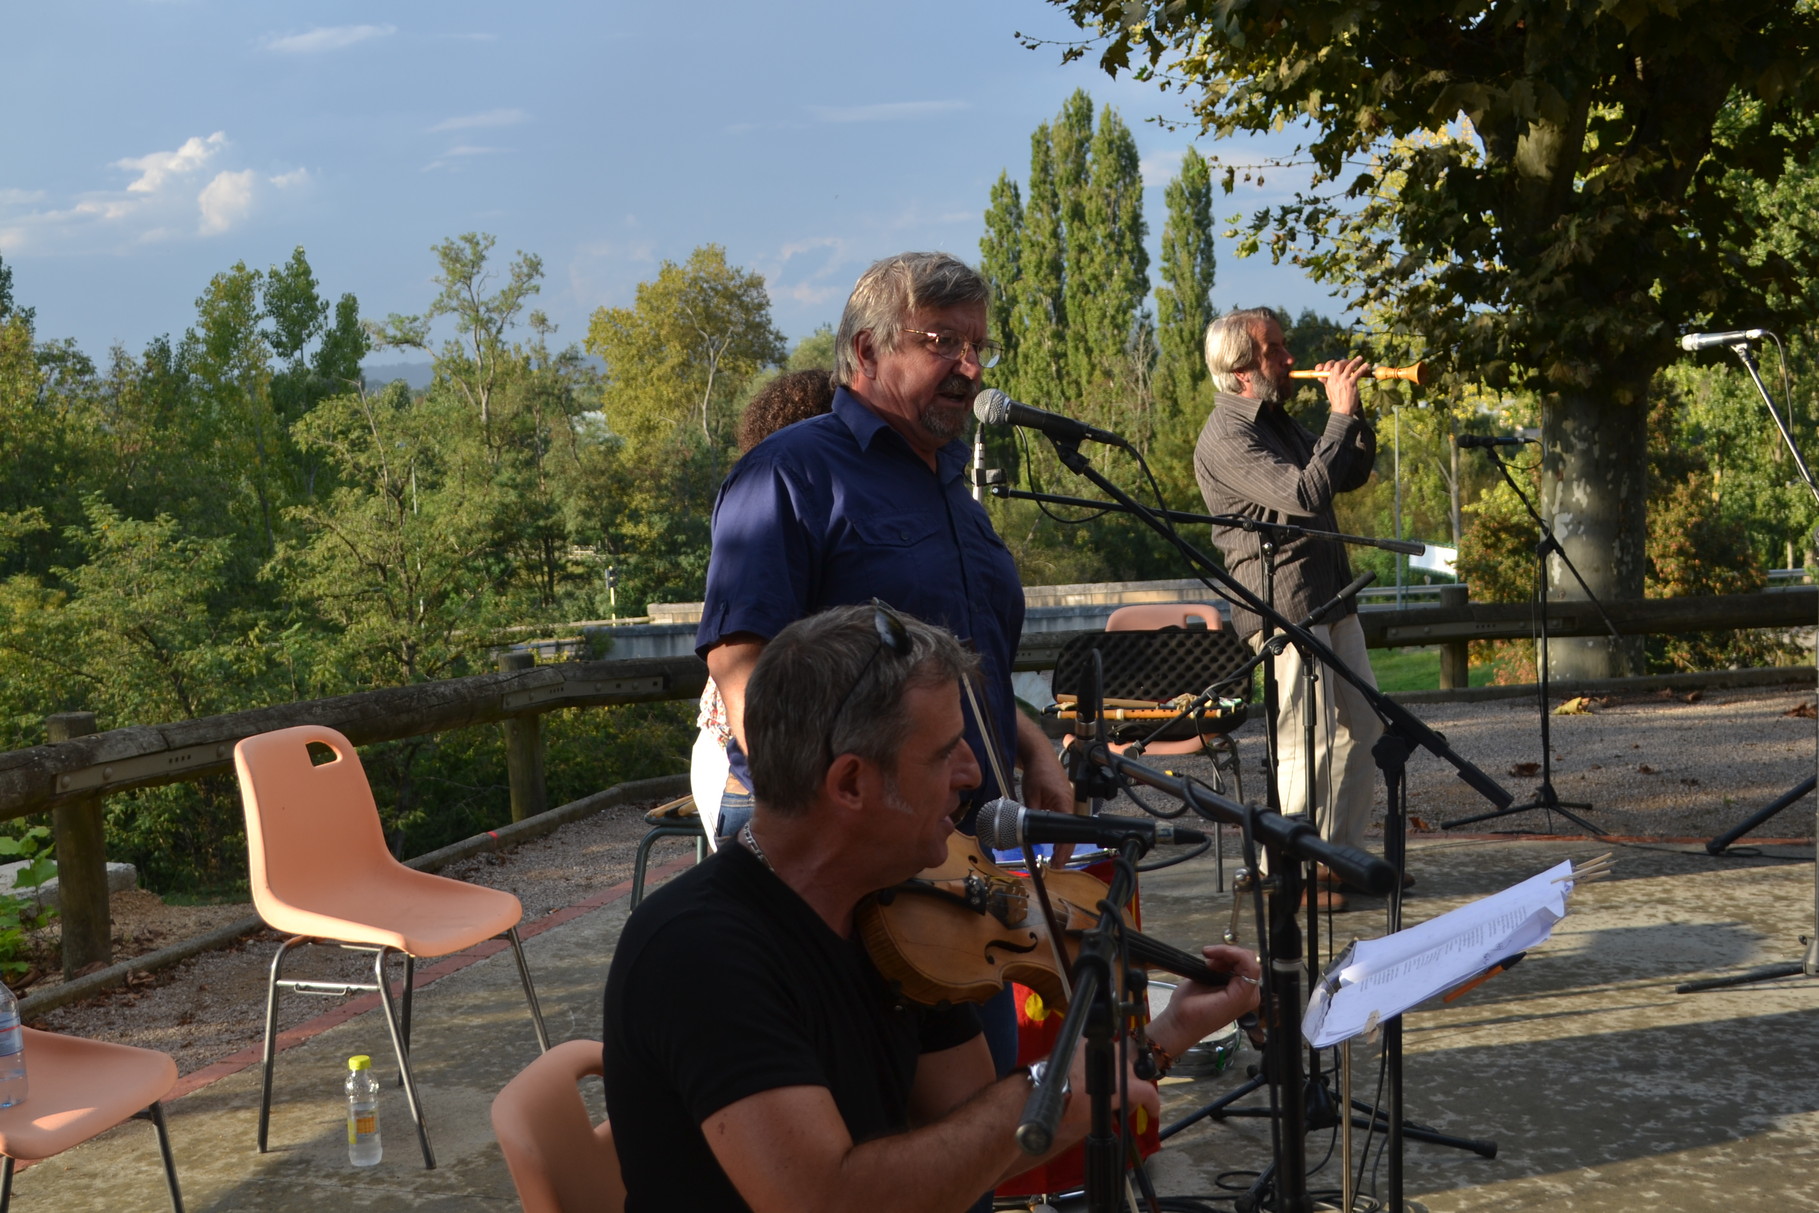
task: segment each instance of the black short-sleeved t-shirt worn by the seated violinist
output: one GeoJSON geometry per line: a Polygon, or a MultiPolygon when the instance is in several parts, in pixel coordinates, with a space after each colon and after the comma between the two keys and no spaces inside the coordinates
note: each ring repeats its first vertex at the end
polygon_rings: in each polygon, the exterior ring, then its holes
{"type": "Polygon", "coordinates": [[[749,1095],[820,1086],[855,1142],[908,1128],[917,1058],[971,1040],[971,1006],[900,1004],[740,846],[638,906],[606,977],[606,1111],[626,1211],[744,1209],[700,1124],[749,1095]]]}

